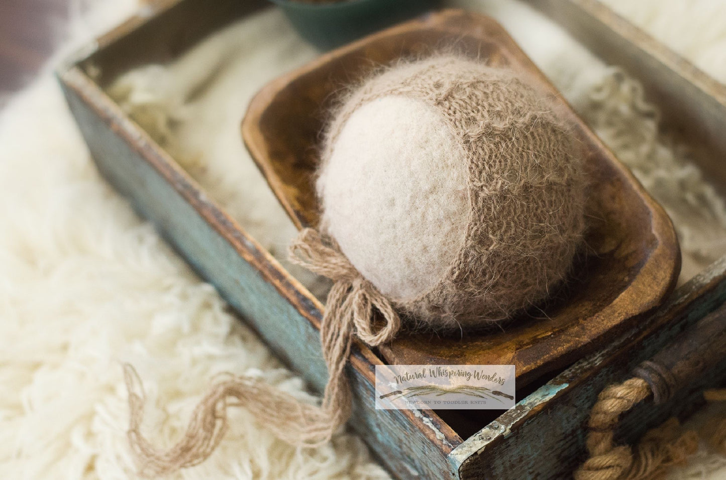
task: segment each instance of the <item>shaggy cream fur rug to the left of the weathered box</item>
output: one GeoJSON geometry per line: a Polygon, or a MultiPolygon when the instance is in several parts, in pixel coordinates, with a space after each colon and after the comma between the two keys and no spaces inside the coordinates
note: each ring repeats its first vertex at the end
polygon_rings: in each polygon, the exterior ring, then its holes
{"type": "MultiPolygon", "coordinates": [[[[131,7],[98,4],[86,28],[99,33],[131,7]]],[[[50,71],[0,116],[0,198],[0,479],[134,478],[121,362],[144,378],[158,444],[176,439],[221,371],[265,371],[306,397],[99,178],[50,71]]],[[[295,450],[230,413],[213,457],[172,478],[388,478],[356,436],[295,450]]]]}

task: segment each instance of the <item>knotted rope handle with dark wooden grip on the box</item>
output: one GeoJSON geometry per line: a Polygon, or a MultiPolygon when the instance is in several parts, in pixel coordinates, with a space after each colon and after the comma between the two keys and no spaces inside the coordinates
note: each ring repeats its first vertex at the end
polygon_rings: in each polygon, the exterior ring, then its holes
{"type": "MultiPolygon", "coordinates": [[[[633,370],[633,378],[605,387],[590,412],[586,440],[590,455],[574,473],[576,480],[653,479],[666,467],[682,463],[698,449],[698,434],[681,431],[677,419],[648,431],[637,447],[619,445],[614,435],[621,415],[643,400],[656,405],[671,399],[726,357],[726,305],[706,315],[650,360],[633,370]]],[[[710,392],[708,397],[723,394],[710,392]]],[[[726,421],[717,431],[726,431],[726,421]]],[[[717,432],[718,433],[718,432],[717,432]]],[[[726,436],[715,441],[722,447],[726,436]]]]}

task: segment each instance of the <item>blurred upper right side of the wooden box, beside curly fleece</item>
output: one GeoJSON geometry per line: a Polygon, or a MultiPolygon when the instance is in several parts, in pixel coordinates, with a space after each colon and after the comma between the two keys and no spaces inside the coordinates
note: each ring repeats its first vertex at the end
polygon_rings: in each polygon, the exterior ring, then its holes
{"type": "Polygon", "coordinates": [[[695,160],[726,191],[726,86],[597,0],[529,0],[598,57],[645,86],[667,127],[688,138],[695,160]]]}

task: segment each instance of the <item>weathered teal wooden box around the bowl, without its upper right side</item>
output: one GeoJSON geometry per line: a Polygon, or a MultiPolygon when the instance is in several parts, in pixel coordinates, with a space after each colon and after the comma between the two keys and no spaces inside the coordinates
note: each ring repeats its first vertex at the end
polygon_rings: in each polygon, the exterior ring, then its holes
{"type": "MultiPolygon", "coordinates": [[[[120,73],[174,59],[208,33],[261,7],[261,1],[240,0],[157,4],[70,59],[58,76],[105,178],[319,390],[326,375],[318,332],[322,305],[103,91],[120,73]]],[[[720,172],[716,178],[726,178],[726,169],[720,172]]],[[[399,478],[566,478],[584,460],[584,425],[603,386],[627,378],[635,365],[725,301],[726,258],[615,342],[599,346],[595,355],[532,382],[505,413],[374,410],[373,370],[381,360],[357,344],[348,365],[356,397],[351,427],[399,478]]],[[[622,440],[633,442],[670,415],[688,415],[701,405],[703,386],[725,378],[722,362],[665,405],[636,407],[622,422],[622,440]]]]}

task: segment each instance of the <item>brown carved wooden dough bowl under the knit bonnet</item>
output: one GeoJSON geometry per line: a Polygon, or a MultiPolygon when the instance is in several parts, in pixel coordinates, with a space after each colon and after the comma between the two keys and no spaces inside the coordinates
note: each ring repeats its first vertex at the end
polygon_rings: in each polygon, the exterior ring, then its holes
{"type": "Polygon", "coordinates": [[[521,387],[603,348],[659,305],[675,286],[680,250],[664,210],[497,22],[444,10],[324,54],[257,94],[242,121],[242,137],[295,225],[314,226],[318,209],[311,175],[335,93],[372,67],[441,47],[508,67],[563,105],[562,115],[584,144],[592,181],[587,253],[550,302],[500,330],[449,338],[406,332],[379,353],[387,363],[403,365],[513,364],[521,387]]]}

